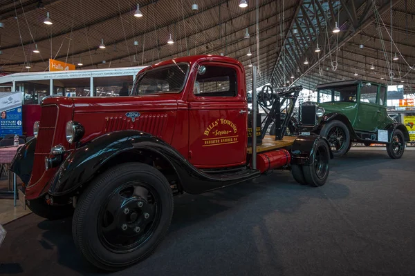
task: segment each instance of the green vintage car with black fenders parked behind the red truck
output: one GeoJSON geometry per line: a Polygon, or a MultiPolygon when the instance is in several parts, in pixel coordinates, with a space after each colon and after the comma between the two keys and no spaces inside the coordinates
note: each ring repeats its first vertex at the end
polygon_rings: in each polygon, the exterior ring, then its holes
{"type": "Polygon", "coordinates": [[[385,144],[389,157],[402,157],[409,133],[386,111],[387,86],[362,80],[338,81],[317,86],[317,103],[299,108],[302,135],[321,135],[333,155],[346,154],[352,142],[385,144]]]}

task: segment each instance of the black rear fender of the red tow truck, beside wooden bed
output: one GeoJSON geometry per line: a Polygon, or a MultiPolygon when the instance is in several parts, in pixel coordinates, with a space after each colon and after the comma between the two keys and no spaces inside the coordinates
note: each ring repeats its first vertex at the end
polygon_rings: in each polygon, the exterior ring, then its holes
{"type": "Polygon", "coordinates": [[[319,141],[324,141],[330,150],[330,158],[333,159],[329,141],[320,135],[299,136],[291,146],[291,164],[311,165],[313,164],[315,146],[319,141]]]}

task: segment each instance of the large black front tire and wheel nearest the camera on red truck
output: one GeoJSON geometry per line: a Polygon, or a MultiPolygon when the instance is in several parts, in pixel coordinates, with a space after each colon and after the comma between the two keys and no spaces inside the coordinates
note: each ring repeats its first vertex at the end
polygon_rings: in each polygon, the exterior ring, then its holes
{"type": "Polygon", "coordinates": [[[172,189],[161,172],[142,163],[120,164],[97,177],[80,197],[73,240],[94,266],[122,270],[153,253],[172,215],[172,189]]]}

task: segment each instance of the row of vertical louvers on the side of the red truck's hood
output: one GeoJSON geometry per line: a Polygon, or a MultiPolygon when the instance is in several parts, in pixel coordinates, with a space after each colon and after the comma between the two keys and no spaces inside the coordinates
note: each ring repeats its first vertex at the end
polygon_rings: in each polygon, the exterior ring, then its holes
{"type": "Polygon", "coordinates": [[[104,132],[113,132],[117,130],[141,130],[160,139],[163,139],[163,133],[167,125],[167,114],[150,114],[141,115],[133,123],[131,119],[123,116],[107,117],[104,132]]]}

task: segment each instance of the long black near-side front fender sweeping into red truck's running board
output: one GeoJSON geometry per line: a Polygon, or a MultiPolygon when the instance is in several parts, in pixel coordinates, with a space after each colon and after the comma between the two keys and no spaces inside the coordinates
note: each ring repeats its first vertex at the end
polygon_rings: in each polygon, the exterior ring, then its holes
{"type": "Polygon", "coordinates": [[[259,170],[243,170],[237,175],[227,176],[208,175],[195,168],[165,141],[145,132],[122,130],[102,135],[70,152],[50,182],[49,193],[53,196],[73,193],[89,183],[116,155],[122,152],[140,155],[140,151],[156,153],[169,162],[187,193],[204,193],[259,176],[259,170]]]}

